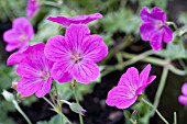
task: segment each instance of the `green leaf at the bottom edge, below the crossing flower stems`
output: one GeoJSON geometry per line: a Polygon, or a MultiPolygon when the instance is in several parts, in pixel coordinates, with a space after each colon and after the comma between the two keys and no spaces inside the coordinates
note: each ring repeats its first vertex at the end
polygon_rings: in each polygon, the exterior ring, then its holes
{"type": "Polygon", "coordinates": [[[66,119],[61,115],[53,116],[50,121],[40,121],[36,124],[66,124],[66,119]]]}

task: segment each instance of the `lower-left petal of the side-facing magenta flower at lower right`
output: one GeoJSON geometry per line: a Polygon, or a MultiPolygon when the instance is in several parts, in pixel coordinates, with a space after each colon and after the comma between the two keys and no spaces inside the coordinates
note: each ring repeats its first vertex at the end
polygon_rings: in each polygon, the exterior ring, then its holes
{"type": "Polygon", "coordinates": [[[136,98],[127,87],[118,86],[108,92],[106,103],[118,109],[127,109],[135,102],[136,98]]]}

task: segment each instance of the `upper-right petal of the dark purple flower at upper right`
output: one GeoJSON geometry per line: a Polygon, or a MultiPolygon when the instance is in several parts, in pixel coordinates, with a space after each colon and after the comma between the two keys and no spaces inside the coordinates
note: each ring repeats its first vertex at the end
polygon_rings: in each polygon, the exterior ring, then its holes
{"type": "Polygon", "coordinates": [[[152,18],[154,18],[156,20],[161,20],[165,24],[165,22],[166,22],[166,14],[165,14],[165,12],[162,9],[160,9],[157,7],[154,7],[152,9],[151,15],[152,15],[152,18]]]}

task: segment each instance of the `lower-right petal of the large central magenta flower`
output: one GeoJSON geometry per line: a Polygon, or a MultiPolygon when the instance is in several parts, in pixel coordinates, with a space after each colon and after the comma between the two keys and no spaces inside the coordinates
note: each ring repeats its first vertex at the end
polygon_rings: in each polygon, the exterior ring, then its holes
{"type": "Polygon", "coordinates": [[[89,83],[99,77],[99,67],[94,61],[80,61],[73,68],[74,78],[80,83],[89,83]]]}

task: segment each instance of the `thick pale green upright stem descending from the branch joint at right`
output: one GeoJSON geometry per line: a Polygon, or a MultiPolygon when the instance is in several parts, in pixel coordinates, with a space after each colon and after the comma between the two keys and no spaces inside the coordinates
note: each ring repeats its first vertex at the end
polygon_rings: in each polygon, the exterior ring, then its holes
{"type": "MultiPolygon", "coordinates": [[[[161,95],[163,93],[163,90],[164,90],[164,87],[165,87],[165,83],[166,83],[167,75],[168,75],[168,67],[165,66],[163,74],[162,74],[162,77],[161,77],[160,86],[158,86],[157,91],[156,91],[156,95],[154,98],[154,108],[155,109],[157,109],[157,106],[160,104],[161,95]]],[[[153,110],[151,112],[151,115],[153,116],[154,113],[155,113],[155,111],[153,110]]]]}

